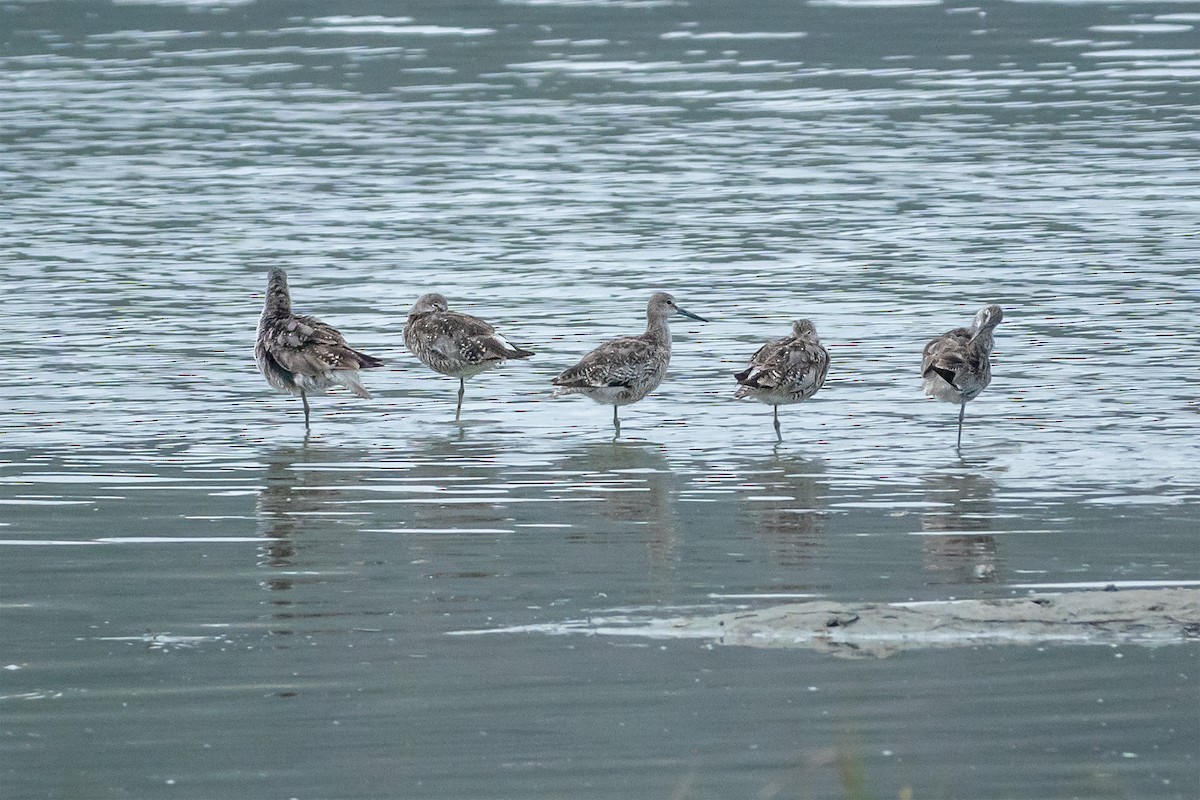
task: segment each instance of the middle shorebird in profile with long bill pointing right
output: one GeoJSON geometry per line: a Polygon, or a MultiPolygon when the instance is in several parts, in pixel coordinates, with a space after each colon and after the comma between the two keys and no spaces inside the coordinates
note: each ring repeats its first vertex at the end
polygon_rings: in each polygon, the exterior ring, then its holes
{"type": "Polygon", "coordinates": [[[596,403],[612,405],[612,426],[620,435],[617,409],[642,399],[662,383],[671,362],[671,327],[667,320],[683,314],[702,323],[708,320],[676,305],[665,291],[650,295],[646,306],[646,332],[608,339],[577,365],[564,371],[551,383],[554,397],[586,395],[596,403]]]}

